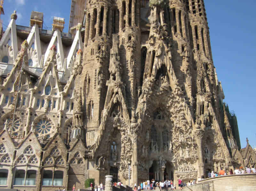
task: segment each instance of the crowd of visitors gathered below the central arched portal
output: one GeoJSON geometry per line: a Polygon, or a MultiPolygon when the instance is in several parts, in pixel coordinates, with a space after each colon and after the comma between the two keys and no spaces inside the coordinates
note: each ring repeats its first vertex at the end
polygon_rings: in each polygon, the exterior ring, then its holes
{"type": "Polygon", "coordinates": [[[140,190],[155,190],[156,187],[159,187],[160,190],[174,190],[176,189],[176,185],[173,184],[172,180],[162,180],[159,182],[156,182],[155,179],[147,180],[141,182],[139,185],[134,183],[134,191],[140,191],[140,190]]]}

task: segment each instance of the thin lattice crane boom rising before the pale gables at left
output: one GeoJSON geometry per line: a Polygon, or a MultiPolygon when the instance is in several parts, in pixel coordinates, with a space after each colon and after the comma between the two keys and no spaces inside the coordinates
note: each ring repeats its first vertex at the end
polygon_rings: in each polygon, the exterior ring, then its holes
{"type": "Polygon", "coordinates": [[[15,121],[15,112],[16,112],[16,108],[17,108],[17,104],[18,104],[18,94],[19,94],[20,89],[21,89],[22,72],[23,72],[23,67],[24,67],[24,53],[25,53],[25,50],[22,49],[21,50],[21,60],[18,63],[18,67],[15,68],[15,70],[17,71],[17,75],[16,75],[16,80],[13,84],[13,89],[14,89],[14,91],[13,91],[13,101],[12,101],[10,122],[8,124],[8,129],[9,129],[10,135],[12,135],[12,130],[13,130],[12,127],[13,127],[13,124],[14,124],[14,121],[15,121]]]}

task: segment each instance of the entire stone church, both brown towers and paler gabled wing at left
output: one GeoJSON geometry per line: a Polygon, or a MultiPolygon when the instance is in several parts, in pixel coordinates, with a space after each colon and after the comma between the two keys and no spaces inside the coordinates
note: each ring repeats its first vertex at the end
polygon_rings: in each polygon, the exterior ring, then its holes
{"type": "Polygon", "coordinates": [[[255,166],[222,101],[203,0],[89,0],[73,40],[36,24],[23,40],[12,18],[0,41],[0,188],[255,166]]]}

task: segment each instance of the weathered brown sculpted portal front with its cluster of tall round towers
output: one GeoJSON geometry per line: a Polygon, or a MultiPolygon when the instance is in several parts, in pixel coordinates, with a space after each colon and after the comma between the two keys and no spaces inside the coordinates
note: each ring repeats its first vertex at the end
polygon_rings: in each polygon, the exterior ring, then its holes
{"type": "Polygon", "coordinates": [[[231,168],[214,69],[203,0],[88,1],[76,87],[96,180],[231,168]]]}

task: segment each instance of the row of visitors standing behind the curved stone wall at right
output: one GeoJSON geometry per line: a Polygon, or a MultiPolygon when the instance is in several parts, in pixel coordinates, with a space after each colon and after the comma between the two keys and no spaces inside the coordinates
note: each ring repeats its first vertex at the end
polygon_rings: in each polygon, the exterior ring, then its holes
{"type": "MultiPolygon", "coordinates": [[[[245,170],[242,167],[239,168],[239,169],[236,167],[236,169],[234,171],[233,171],[233,169],[230,169],[228,174],[232,175],[232,174],[244,174],[244,173],[248,173],[248,174],[256,173],[256,170],[255,170],[254,167],[249,168],[249,167],[246,166],[245,170]]],[[[212,178],[212,177],[216,177],[216,176],[224,176],[224,175],[228,175],[228,174],[223,169],[221,169],[219,173],[209,171],[209,173],[207,174],[207,178],[212,178]]],[[[199,177],[198,177],[198,179],[199,179],[199,177]]],[[[204,179],[203,176],[200,180],[202,180],[202,179],[204,179]]]]}

